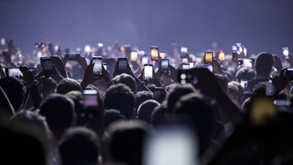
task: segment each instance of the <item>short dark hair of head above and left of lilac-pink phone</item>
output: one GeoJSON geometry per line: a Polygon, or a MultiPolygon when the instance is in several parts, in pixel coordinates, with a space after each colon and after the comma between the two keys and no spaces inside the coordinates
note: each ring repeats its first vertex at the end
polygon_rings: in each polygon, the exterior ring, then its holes
{"type": "Polygon", "coordinates": [[[82,92],[81,85],[72,78],[64,78],[56,88],[56,93],[66,94],[67,92],[79,90],[82,92]]]}

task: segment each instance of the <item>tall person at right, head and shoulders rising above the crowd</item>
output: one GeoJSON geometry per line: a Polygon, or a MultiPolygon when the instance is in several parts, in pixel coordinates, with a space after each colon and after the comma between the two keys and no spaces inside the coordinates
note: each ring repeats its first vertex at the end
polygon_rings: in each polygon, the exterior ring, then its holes
{"type": "Polygon", "coordinates": [[[275,59],[271,53],[261,52],[255,58],[255,78],[248,80],[247,87],[252,91],[260,82],[268,81],[275,59]]]}

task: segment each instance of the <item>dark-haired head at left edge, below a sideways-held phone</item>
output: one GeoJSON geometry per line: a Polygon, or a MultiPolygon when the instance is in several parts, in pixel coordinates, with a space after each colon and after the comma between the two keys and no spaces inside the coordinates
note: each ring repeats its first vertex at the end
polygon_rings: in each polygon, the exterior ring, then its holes
{"type": "Polygon", "coordinates": [[[23,104],[23,84],[14,77],[0,78],[0,86],[7,95],[15,112],[21,110],[23,104]]]}

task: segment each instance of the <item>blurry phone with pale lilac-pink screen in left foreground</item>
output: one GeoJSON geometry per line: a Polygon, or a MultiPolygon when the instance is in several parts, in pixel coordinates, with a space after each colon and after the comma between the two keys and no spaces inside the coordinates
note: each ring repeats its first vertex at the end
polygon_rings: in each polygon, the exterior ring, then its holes
{"type": "Polygon", "coordinates": [[[84,106],[85,107],[97,107],[99,105],[99,91],[98,90],[84,90],[84,106]]]}

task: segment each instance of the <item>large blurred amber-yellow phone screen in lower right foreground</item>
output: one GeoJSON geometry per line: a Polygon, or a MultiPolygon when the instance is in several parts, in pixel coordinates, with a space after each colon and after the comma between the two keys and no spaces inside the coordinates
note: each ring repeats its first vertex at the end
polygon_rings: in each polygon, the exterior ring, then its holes
{"type": "Polygon", "coordinates": [[[253,126],[265,126],[277,116],[277,107],[272,96],[255,96],[250,98],[248,108],[249,123],[253,126]]]}

